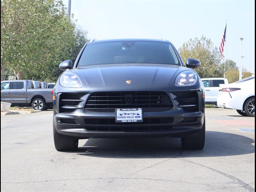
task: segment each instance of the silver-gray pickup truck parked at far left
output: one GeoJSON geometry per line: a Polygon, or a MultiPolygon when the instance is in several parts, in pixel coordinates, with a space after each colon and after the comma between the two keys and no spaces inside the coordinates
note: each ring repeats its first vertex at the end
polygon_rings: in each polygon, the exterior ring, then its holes
{"type": "Polygon", "coordinates": [[[1,101],[12,106],[32,106],[45,110],[52,106],[53,89],[34,89],[31,80],[6,80],[1,82],[1,101]]]}

